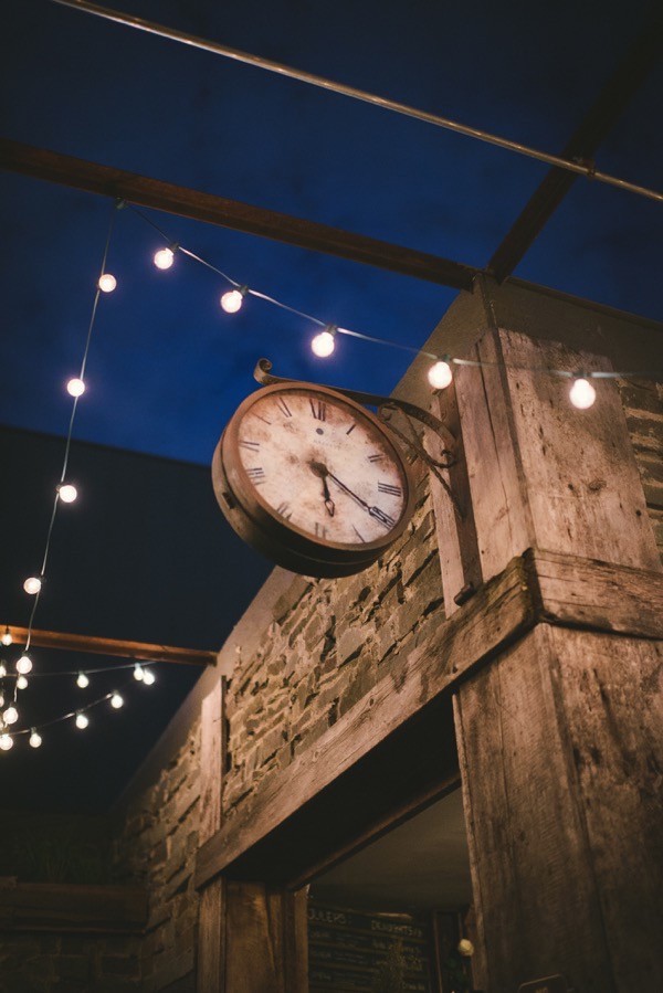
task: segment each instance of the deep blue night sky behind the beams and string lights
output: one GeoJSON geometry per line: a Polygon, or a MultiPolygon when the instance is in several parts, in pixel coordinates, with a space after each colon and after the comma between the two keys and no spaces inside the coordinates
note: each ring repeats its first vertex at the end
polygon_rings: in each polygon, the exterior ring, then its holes
{"type": "MultiPolygon", "coordinates": [[[[551,152],[651,10],[642,0],[114,6],[551,152]]],[[[487,263],[547,171],[49,0],[6,0],[1,44],[8,138],[474,266],[487,263]]],[[[662,96],[659,65],[599,150],[601,169],[663,187],[662,96]]],[[[64,382],[80,366],[112,207],[2,175],[0,424],[65,434],[64,382]]],[[[456,294],[147,213],[238,282],[393,341],[422,345],[456,294]]],[[[662,236],[661,204],[579,179],[516,275],[660,319],[662,236]]],[[[387,393],[409,365],[404,353],[348,338],[332,359],[315,359],[307,321],[255,299],[223,314],[227,285],[212,272],[181,255],[169,272],[154,267],[162,244],[135,213],[117,213],[106,267],[118,287],[99,300],[77,440],[207,466],[225,422],[256,388],[261,356],[281,374],[387,393]]],[[[21,483],[4,478],[8,485],[21,483]]],[[[30,521],[21,527],[29,532],[30,521]]]]}

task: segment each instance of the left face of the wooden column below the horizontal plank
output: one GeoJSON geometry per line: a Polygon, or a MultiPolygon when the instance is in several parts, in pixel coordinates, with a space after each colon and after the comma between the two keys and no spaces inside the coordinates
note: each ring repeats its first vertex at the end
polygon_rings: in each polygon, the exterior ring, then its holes
{"type": "Polygon", "coordinates": [[[540,625],[455,700],[474,899],[488,950],[482,981],[517,990],[562,973],[573,989],[613,993],[551,664],[540,625]]]}

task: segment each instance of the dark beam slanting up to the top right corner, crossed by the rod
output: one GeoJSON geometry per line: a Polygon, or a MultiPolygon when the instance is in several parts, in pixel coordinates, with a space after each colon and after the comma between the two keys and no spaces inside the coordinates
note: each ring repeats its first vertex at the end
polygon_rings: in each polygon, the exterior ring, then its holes
{"type": "MultiPolygon", "coordinates": [[[[589,161],[661,59],[663,19],[648,24],[585,115],[561,152],[566,159],[589,161]]],[[[533,193],[488,263],[498,283],[509,276],[548,219],[571,189],[578,175],[554,167],[533,193]]]]}

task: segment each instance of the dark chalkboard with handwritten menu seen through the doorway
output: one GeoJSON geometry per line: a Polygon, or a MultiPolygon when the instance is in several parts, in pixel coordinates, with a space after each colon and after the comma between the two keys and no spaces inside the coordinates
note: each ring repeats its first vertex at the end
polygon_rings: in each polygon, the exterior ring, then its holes
{"type": "Polygon", "coordinates": [[[394,942],[406,959],[408,993],[432,993],[430,928],[406,913],[362,913],[308,905],[311,993],[371,993],[380,965],[394,942]]]}

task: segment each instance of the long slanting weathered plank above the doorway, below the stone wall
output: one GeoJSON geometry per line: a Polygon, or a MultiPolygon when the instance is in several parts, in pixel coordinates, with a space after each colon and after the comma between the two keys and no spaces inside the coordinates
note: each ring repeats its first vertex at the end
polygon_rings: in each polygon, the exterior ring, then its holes
{"type": "Polygon", "coordinates": [[[242,852],[334,782],[477,659],[528,630],[536,620],[532,590],[515,560],[406,659],[398,685],[381,680],[315,744],[269,781],[256,801],[227,822],[198,852],[196,885],[203,886],[242,852]]]}

